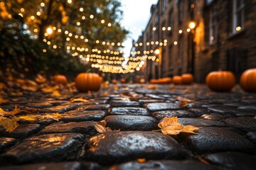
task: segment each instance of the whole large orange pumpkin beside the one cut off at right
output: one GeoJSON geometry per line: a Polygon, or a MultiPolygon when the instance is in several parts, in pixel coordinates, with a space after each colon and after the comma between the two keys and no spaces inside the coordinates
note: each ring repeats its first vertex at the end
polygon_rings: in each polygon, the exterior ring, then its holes
{"type": "Polygon", "coordinates": [[[213,91],[230,91],[235,86],[235,75],[229,71],[210,72],[206,84],[213,91]]]}

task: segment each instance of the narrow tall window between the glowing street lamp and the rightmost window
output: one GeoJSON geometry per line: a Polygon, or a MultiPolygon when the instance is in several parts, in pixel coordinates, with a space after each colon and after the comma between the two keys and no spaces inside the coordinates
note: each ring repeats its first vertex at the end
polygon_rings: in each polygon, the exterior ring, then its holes
{"type": "Polygon", "coordinates": [[[209,42],[213,44],[217,40],[217,7],[213,5],[210,8],[210,34],[209,42]]]}

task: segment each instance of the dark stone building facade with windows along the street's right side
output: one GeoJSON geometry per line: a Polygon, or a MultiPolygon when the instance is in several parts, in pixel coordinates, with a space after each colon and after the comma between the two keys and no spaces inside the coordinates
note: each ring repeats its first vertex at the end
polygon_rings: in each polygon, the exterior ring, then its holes
{"type": "Polygon", "coordinates": [[[146,58],[148,79],[192,73],[204,82],[218,69],[239,79],[245,69],[256,67],[256,0],[159,0],[150,10],[135,46],[146,58]],[[191,21],[195,28],[189,28],[191,21]]]}

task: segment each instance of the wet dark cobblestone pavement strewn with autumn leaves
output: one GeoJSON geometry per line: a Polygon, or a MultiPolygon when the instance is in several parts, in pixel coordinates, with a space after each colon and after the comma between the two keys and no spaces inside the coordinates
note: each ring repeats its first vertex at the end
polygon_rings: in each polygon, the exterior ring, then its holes
{"type": "Polygon", "coordinates": [[[239,87],[215,93],[205,85],[117,84],[93,94],[53,98],[43,92],[9,96],[26,115],[60,113],[59,121],[20,120],[0,128],[0,169],[255,169],[256,94],[239,87]],[[117,88],[118,87],[118,88],[117,88]],[[87,102],[71,103],[70,98],[87,102]],[[184,99],[185,98],[185,99],[184,99]],[[186,101],[190,99],[191,101],[186,101]],[[164,135],[158,123],[178,116],[196,134],[164,135]],[[100,133],[105,120],[112,132],[100,133]]]}

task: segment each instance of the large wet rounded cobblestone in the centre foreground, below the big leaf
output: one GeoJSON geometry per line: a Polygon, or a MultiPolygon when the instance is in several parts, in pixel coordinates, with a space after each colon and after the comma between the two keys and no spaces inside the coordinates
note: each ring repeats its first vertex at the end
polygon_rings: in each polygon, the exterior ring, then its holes
{"type": "Polygon", "coordinates": [[[90,138],[86,148],[86,158],[101,164],[186,156],[176,140],[159,132],[107,132],[90,138]]]}

